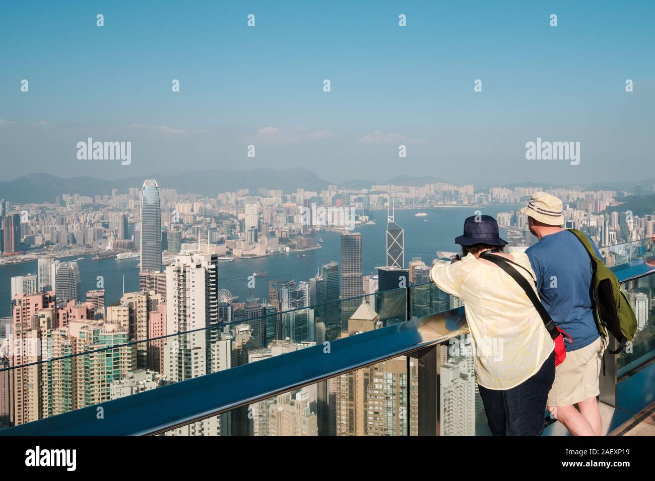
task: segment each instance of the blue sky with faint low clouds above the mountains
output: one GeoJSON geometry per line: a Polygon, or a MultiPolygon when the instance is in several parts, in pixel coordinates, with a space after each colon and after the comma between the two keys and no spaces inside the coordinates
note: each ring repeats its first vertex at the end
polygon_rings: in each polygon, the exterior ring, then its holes
{"type": "Polygon", "coordinates": [[[654,14],[650,1],[7,3],[0,177],[293,166],[328,181],[652,177],[654,14]],[[77,160],[87,137],[131,141],[132,163],[77,160]],[[536,137],[580,141],[580,165],[525,160],[536,137]]]}

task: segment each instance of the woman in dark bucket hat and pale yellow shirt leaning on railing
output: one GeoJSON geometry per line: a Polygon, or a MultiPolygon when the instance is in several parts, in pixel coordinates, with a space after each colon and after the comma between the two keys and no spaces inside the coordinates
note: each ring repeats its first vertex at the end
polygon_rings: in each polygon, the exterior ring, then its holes
{"type": "Polygon", "coordinates": [[[493,251],[514,262],[515,269],[534,285],[530,261],[523,252],[500,252],[506,241],[498,236],[498,224],[488,215],[468,217],[464,235],[455,243],[462,246],[462,255],[451,264],[436,264],[430,279],[464,301],[476,380],[491,434],[538,436],[544,429],[546,399],[555,379],[555,343],[525,291],[483,254],[493,251]],[[481,355],[476,346],[500,349],[481,355]]]}

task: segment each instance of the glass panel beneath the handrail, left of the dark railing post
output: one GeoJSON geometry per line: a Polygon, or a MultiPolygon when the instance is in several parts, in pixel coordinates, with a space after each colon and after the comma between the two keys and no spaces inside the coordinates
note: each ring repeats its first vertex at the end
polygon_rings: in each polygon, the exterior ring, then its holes
{"type": "Polygon", "coordinates": [[[407,357],[398,356],[162,436],[407,436],[410,429],[417,435],[409,416],[417,409],[410,395],[417,370],[408,375],[407,366],[407,357]]]}

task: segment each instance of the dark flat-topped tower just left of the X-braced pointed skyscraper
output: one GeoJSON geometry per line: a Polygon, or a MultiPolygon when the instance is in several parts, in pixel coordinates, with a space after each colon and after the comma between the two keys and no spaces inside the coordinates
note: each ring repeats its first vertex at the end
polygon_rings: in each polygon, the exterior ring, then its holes
{"type": "Polygon", "coordinates": [[[341,234],[341,330],[348,329],[348,319],[362,304],[362,234],[344,232],[341,234]]]}

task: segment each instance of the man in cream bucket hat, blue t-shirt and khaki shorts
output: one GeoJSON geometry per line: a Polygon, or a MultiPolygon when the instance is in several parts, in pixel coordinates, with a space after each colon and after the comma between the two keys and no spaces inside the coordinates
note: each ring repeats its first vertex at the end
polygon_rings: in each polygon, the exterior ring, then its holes
{"type": "MultiPolygon", "coordinates": [[[[561,227],[563,207],[557,197],[536,192],[521,212],[528,216],[530,232],[539,239],[526,253],[541,301],[555,325],[572,338],[565,343],[566,359],[555,369],[548,410],[574,436],[601,436],[596,397],[606,346],[592,310],[591,260],[576,236],[561,227]]],[[[595,243],[591,244],[602,258],[595,243]]]]}

